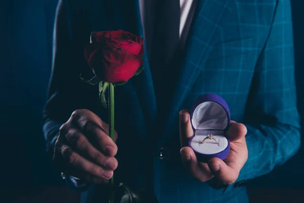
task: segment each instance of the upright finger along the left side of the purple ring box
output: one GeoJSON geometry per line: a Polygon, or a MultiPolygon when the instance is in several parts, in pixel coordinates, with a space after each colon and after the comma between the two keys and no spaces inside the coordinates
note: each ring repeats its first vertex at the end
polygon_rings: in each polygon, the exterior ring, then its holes
{"type": "Polygon", "coordinates": [[[186,110],[179,112],[179,136],[181,147],[188,146],[189,138],[193,136],[190,114],[186,110]]]}

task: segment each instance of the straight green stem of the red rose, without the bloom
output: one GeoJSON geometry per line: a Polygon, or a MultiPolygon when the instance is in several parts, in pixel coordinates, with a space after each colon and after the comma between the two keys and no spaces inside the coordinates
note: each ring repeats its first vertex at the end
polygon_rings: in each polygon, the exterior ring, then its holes
{"type": "MultiPolygon", "coordinates": [[[[109,84],[109,136],[112,140],[114,140],[114,85],[112,83],[109,84]]],[[[109,181],[110,189],[114,187],[114,179],[113,177],[109,181]]],[[[113,191],[110,192],[109,203],[113,203],[114,196],[113,191]]]]}

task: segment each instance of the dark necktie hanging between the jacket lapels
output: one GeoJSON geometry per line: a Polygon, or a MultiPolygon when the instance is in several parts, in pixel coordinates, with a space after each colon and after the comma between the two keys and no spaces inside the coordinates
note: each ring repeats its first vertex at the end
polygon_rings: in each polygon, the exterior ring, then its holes
{"type": "MultiPolygon", "coordinates": [[[[156,0],[150,69],[154,81],[158,113],[167,115],[179,73],[179,0],[156,0]]],[[[160,118],[161,119],[161,118],[160,118]]]]}

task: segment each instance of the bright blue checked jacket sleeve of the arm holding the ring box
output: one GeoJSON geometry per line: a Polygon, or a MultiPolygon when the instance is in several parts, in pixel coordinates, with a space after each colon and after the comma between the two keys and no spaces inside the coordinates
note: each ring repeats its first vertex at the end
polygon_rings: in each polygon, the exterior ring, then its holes
{"type": "Polygon", "coordinates": [[[293,59],[290,1],[280,0],[247,102],[248,159],[237,182],[271,172],[300,147],[293,59]]]}

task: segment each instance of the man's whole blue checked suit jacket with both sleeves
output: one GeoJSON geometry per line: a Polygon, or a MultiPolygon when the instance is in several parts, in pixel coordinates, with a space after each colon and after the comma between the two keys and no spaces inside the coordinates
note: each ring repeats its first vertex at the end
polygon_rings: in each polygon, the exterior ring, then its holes
{"type": "MultiPolygon", "coordinates": [[[[137,1],[59,3],[53,72],[44,130],[50,153],[62,123],[76,109],[107,121],[97,88],[81,83],[87,63],[83,47],[92,30],[125,29],[143,36],[137,1]]],[[[288,0],[199,0],[182,69],[161,128],[148,61],[145,69],[116,88],[119,134],[115,180],[153,190],[161,203],[247,202],[245,180],[267,174],[300,146],[294,84],[293,36],[288,0]],[[178,112],[205,93],[222,96],[231,118],[246,125],[249,156],[236,184],[214,188],[191,178],[179,157],[178,112]],[[164,148],[166,157],[158,157],[164,148]]],[[[165,99],[165,97],[164,97],[165,99]]],[[[84,202],[102,202],[103,186],[91,185],[84,202]]]]}

